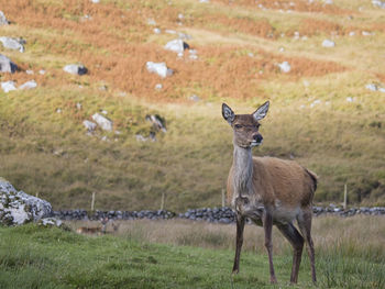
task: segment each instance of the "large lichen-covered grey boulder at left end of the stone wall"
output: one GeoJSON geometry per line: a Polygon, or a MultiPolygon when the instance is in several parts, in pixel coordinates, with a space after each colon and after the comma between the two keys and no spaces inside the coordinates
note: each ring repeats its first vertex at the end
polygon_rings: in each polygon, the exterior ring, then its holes
{"type": "Polygon", "coordinates": [[[20,225],[53,214],[50,202],[18,191],[0,178],[0,224],[20,225]]]}

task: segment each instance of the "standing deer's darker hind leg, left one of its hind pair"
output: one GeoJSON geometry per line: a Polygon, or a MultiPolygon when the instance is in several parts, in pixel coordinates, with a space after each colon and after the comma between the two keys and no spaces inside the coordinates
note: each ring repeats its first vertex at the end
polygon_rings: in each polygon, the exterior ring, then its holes
{"type": "Polygon", "coordinates": [[[299,234],[297,229],[292,223],[277,224],[277,227],[293,246],[294,254],[290,284],[296,284],[298,280],[299,265],[302,256],[304,237],[299,234]]]}

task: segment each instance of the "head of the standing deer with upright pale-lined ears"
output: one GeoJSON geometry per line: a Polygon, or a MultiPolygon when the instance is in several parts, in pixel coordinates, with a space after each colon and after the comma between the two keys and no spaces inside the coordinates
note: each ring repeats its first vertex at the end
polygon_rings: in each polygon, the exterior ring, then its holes
{"type": "Polygon", "coordinates": [[[234,114],[231,108],[222,103],[223,119],[233,129],[233,143],[240,147],[249,148],[262,144],[263,137],[258,132],[260,120],[266,116],[270,102],[266,101],[252,114],[234,114]]]}

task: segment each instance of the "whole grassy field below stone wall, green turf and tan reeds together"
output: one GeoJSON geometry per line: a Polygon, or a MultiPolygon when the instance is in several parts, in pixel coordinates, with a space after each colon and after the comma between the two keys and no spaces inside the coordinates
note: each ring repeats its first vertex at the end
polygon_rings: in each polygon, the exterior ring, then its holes
{"type": "MultiPolygon", "coordinates": [[[[298,286],[288,285],[292,252],[277,231],[273,235],[278,285],[268,284],[262,232],[251,225],[241,271],[231,276],[234,230],[183,221],[123,222],[118,233],[103,236],[33,224],[0,227],[0,287],[312,288],[306,254],[298,286]]],[[[315,219],[317,288],[383,288],[384,232],[382,216],[315,219]]]]}

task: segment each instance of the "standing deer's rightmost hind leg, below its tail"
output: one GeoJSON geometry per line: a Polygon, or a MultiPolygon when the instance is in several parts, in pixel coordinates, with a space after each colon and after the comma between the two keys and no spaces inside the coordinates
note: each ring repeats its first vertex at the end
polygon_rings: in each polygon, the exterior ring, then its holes
{"type": "Polygon", "coordinates": [[[310,266],[311,266],[311,279],[314,284],[317,284],[317,277],[316,277],[316,265],[315,265],[315,246],[311,238],[311,209],[305,210],[302,214],[300,214],[297,218],[299,231],[301,232],[306,248],[310,258],[310,266]]]}

